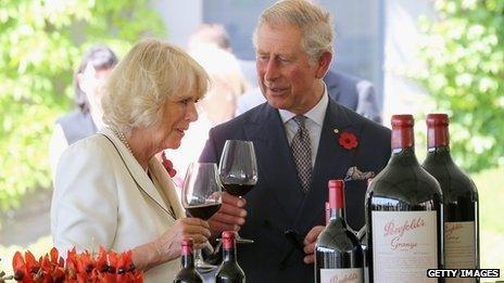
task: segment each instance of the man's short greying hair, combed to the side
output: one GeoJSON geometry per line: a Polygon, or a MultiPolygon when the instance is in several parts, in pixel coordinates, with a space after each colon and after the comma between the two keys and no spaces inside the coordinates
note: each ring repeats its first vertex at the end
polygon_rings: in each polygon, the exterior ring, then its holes
{"type": "Polygon", "coordinates": [[[279,1],[266,9],[261,14],[252,37],[255,49],[257,49],[259,28],[264,24],[298,27],[302,34],[301,48],[312,62],[318,61],[326,51],[335,53],[332,48],[335,30],[331,15],[319,5],[306,0],[279,1]]]}

